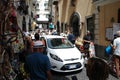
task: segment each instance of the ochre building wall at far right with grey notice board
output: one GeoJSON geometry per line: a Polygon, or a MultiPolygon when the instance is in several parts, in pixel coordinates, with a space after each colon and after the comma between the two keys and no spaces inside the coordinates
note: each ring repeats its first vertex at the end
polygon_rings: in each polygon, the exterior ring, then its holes
{"type": "Polygon", "coordinates": [[[106,46],[113,38],[114,32],[110,30],[114,30],[114,23],[120,23],[120,0],[97,0],[93,4],[96,7],[96,43],[106,46]]]}

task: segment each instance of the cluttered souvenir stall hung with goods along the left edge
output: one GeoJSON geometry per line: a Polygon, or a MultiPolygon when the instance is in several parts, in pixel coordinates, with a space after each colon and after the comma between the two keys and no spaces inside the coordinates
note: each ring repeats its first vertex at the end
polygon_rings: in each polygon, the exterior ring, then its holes
{"type": "Polygon", "coordinates": [[[18,80],[19,55],[24,49],[12,0],[0,0],[0,80],[18,80]]]}

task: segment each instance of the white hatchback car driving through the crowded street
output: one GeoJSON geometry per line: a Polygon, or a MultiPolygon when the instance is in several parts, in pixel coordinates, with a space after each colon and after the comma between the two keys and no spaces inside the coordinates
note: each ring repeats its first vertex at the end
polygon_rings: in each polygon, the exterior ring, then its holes
{"type": "Polygon", "coordinates": [[[53,71],[72,72],[84,68],[81,52],[67,38],[57,35],[46,35],[42,38],[45,40],[46,54],[53,71]]]}

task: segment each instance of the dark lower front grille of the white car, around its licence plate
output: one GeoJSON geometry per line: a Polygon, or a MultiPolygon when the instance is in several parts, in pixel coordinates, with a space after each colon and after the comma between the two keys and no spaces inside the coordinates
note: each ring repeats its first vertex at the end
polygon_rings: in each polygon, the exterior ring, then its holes
{"type": "Polygon", "coordinates": [[[81,63],[71,63],[71,64],[65,64],[61,70],[73,70],[73,69],[77,69],[77,68],[80,68],[82,66],[81,63]],[[71,67],[73,66],[73,67],[71,67]]]}

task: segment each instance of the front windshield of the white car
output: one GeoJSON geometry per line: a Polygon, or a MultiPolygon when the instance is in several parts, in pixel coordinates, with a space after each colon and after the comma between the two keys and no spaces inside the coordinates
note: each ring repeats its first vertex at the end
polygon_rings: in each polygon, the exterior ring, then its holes
{"type": "Polygon", "coordinates": [[[66,38],[50,38],[47,39],[48,47],[54,49],[73,48],[73,44],[66,38]]]}

